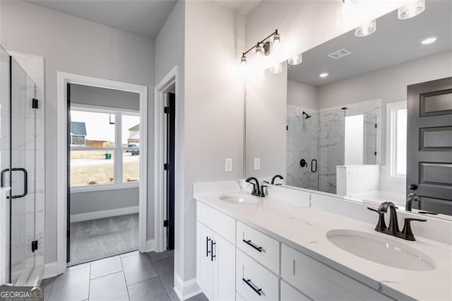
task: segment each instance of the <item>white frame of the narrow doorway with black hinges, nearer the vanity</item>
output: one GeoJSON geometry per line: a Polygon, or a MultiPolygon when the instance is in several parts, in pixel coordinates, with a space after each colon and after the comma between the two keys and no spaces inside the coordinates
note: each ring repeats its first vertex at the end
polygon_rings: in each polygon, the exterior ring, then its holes
{"type": "MultiPolygon", "coordinates": [[[[154,88],[154,239],[155,252],[165,251],[165,98],[169,90],[175,86],[176,89],[176,120],[175,120],[175,150],[174,150],[174,252],[182,247],[182,231],[180,229],[184,212],[183,193],[184,193],[184,172],[183,162],[183,126],[184,114],[183,104],[180,93],[179,66],[174,68],[155,85],[154,88]]],[[[174,268],[176,268],[176,262],[174,268]]]]}

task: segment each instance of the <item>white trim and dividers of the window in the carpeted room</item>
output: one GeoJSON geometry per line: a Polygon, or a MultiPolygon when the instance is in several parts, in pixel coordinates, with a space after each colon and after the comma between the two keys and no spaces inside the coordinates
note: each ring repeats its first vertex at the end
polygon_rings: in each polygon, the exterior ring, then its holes
{"type": "Polygon", "coordinates": [[[114,152],[114,182],[112,184],[97,184],[97,185],[80,185],[71,187],[72,193],[90,192],[90,191],[106,191],[116,189],[128,189],[139,187],[140,181],[123,182],[123,151],[125,150],[139,150],[140,148],[127,148],[122,146],[122,115],[140,116],[138,110],[121,109],[118,107],[102,107],[97,105],[71,105],[71,110],[82,112],[98,112],[105,114],[114,114],[114,146],[107,147],[83,147],[71,146],[71,151],[113,151],[114,152]]]}

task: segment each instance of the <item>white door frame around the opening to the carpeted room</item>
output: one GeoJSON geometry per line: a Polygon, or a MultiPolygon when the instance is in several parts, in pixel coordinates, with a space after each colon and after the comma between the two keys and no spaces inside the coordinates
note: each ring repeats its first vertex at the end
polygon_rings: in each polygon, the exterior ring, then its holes
{"type": "MultiPolygon", "coordinates": [[[[66,221],[67,216],[67,99],[68,83],[90,85],[98,88],[123,90],[139,94],[140,98],[140,151],[148,154],[148,87],[133,83],[110,81],[103,78],[81,76],[73,73],[57,72],[57,273],[66,271],[66,221]]],[[[138,249],[147,248],[147,199],[148,199],[148,156],[140,158],[138,249]]]]}

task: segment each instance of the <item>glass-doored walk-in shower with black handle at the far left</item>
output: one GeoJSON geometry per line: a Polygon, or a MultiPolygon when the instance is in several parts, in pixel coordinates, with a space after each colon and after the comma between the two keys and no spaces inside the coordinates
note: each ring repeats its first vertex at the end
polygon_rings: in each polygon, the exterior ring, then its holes
{"type": "MultiPolygon", "coordinates": [[[[37,85],[4,49],[1,57],[0,167],[1,246],[3,283],[34,285],[40,279],[44,249],[37,224],[44,223],[42,204],[37,206],[37,85]],[[38,207],[38,208],[37,208],[38,207]],[[42,212],[41,212],[42,213],[42,212]],[[38,220],[39,219],[39,220],[38,220]]],[[[43,179],[39,179],[42,181],[43,179]]],[[[42,185],[43,186],[43,185],[42,185]]],[[[41,225],[42,224],[42,225],[41,225]]],[[[42,232],[40,232],[42,234],[42,232]]],[[[1,283],[0,283],[1,284],[1,283]]]]}

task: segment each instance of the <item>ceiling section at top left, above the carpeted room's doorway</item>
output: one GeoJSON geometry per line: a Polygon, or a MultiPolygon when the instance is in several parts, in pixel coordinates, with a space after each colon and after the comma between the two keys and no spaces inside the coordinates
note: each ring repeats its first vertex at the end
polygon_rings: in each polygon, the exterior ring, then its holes
{"type": "Polygon", "coordinates": [[[177,0],[27,0],[27,2],[155,39],[177,0]]]}

